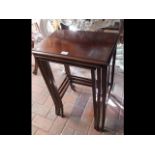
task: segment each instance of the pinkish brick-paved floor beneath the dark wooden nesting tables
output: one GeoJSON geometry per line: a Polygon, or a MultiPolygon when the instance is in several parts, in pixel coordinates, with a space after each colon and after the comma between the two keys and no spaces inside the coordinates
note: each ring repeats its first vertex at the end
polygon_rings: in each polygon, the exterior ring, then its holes
{"type": "MultiPolygon", "coordinates": [[[[34,67],[32,60],[32,70],[34,67]]],[[[64,78],[64,68],[60,64],[51,63],[57,85],[64,78]]],[[[72,74],[90,77],[88,70],[71,68],[72,74]]],[[[119,74],[115,76],[119,82],[119,74]]],[[[122,80],[122,79],[121,79],[122,80]]],[[[121,83],[121,81],[120,81],[121,83]]],[[[121,93],[118,88],[116,92],[121,93]]],[[[76,91],[70,87],[62,99],[64,118],[55,115],[54,104],[42,78],[40,70],[32,74],[32,134],[33,135],[114,135],[123,134],[124,111],[111,100],[107,103],[105,128],[106,132],[98,132],[93,125],[93,102],[90,87],[76,85],[76,91]]]]}

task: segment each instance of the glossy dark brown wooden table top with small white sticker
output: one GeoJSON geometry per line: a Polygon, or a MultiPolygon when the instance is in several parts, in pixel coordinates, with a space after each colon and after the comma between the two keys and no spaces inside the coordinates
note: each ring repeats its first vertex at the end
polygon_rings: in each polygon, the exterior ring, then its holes
{"type": "Polygon", "coordinates": [[[33,53],[107,64],[117,38],[116,33],[59,30],[42,40],[33,53]]]}

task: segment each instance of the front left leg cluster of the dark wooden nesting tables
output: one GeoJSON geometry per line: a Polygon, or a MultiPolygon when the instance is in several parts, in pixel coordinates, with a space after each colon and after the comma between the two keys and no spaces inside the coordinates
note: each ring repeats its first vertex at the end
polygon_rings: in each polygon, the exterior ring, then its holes
{"type": "Polygon", "coordinates": [[[55,105],[55,113],[56,115],[60,115],[63,117],[63,104],[62,104],[60,95],[58,93],[58,90],[54,84],[54,76],[50,68],[49,62],[41,60],[39,58],[37,58],[37,62],[38,62],[40,71],[43,75],[43,78],[46,82],[46,85],[48,87],[48,90],[51,94],[51,97],[53,99],[53,102],[55,105]]]}

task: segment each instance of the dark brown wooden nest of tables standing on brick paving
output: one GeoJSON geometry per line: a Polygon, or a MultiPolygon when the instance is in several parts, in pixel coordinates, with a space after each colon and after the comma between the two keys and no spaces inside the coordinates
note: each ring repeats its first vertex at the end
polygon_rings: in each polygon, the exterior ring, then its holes
{"type": "Polygon", "coordinates": [[[33,50],[57,115],[63,117],[61,99],[69,85],[72,88],[74,83],[90,86],[93,94],[94,127],[98,131],[104,131],[105,102],[113,85],[117,39],[118,34],[113,33],[59,30],[45,38],[33,50]],[[66,77],[59,88],[55,85],[50,61],[65,66],[66,77]],[[110,61],[112,68],[109,67],[110,61]],[[71,75],[69,66],[90,69],[91,79],[71,75]]]}

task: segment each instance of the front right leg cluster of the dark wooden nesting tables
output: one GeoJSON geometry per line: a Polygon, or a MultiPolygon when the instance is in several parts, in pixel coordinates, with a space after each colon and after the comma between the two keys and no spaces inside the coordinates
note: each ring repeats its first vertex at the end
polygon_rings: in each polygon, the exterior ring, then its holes
{"type": "Polygon", "coordinates": [[[105,102],[107,88],[107,68],[97,68],[97,80],[95,70],[91,69],[92,91],[94,105],[94,127],[98,131],[104,131],[105,122],[105,102]]]}

